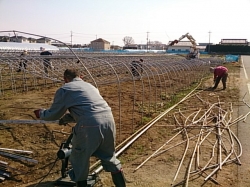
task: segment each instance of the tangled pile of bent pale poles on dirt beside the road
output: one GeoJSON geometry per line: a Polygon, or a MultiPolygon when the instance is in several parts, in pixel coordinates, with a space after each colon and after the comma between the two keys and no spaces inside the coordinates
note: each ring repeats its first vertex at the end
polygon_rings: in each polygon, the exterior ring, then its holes
{"type": "Polygon", "coordinates": [[[180,162],[173,176],[172,186],[188,186],[189,181],[198,176],[204,177],[205,182],[211,180],[219,184],[214,176],[222,170],[224,165],[241,164],[239,158],[242,155],[242,146],[234,132],[236,129],[234,127],[247,116],[239,116],[233,120],[232,103],[218,101],[211,104],[202,100],[199,95],[196,97],[203,106],[199,109],[176,111],[173,114],[175,124],[166,125],[174,127],[173,136],[134,171],[148,160],[163,153],[167,154],[169,150],[177,146],[183,146],[184,151],[178,159],[180,162]]]}

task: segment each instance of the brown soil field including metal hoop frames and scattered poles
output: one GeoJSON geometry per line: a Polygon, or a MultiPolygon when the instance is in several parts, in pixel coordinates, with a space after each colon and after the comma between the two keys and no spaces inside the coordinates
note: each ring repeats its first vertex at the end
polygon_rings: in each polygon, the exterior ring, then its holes
{"type": "MultiPolygon", "coordinates": [[[[96,56],[80,57],[81,63],[75,64],[77,60],[73,57],[53,58],[57,69],[49,76],[42,74],[42,59],[35,55],[29,59],[30,69],[19,74],[13,70],[18,62],[10,63],[9,58],[7,65],[6,58],[1,61],[0,120],[36,120],[33,110],[50,107],[55,91],[63,84],[60,76],[64,69],[78,67],[83,79],[96,85],[112,108],[117,126],[117,152],[130,144],[119,154],[128,187],[187,183],[192,187],[237,185],[239,142],[234,138],[237,124],[221,129],[215,124],[219,119],[217,114],[226,124],[237,121],[238,116],[232,111],[237,111],[238,106],[238,63],[226,64],[230,71],[227,90],[222,91],[220,85],[211,91],[208,88],[213,83],[209,74],[212,59],[96,56]],[[138,58],[144,58],[145,64],[141,77],[135,79],[129,63],[138,58]],[[136,134],[143,131],[132,143],[136,134]],[[219,164],[221,168],[213,174],[216,167],[211,165],[217,166],[222,160],[226,163],[219,164]],[[207,168],[207,163],[211,168],[207,168]]],[[[222,62],[215,60],[213,65],[219,63],[222,62]]],[[[61,176],[57,151],[73,126],[2,123],[1,148],[32,151],[32,154],[18,153],[30,160],[0,155],[12,174],[2,184],[6,187],[54,186],[61,176]]],[[[91,158],[92,164],[96,162],[91,158]]],[[[96,165],[91,167],[91,172],[99,167],[96,165]]],[[[96,186],[113,186],[109,173],[101,172],[99,177],[96,186]]]]}

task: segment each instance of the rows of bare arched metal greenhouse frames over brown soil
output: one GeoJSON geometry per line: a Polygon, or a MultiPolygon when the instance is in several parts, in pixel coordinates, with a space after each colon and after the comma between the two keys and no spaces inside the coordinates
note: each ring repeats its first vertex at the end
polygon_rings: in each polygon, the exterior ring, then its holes
{"type": "Polygon", "coordinates": [[[39,54],[39,51],[30,52],[24,59],[17,52],[1,53],[0,95],[59,87],[63,84],[64,70],[76,68],[83,80],[96,86],[104,98],[112,98],[108,102],[116,114],[120,140],[125,138],[124,128],[133,133],[139,124],[169,106],[176,94],[204,78],[211,63],[222,62],[219,58],[187,60],[167,55],[83,55],[58,51],[46,57],[53,63],[53,69],[46,74],[39,54]],[[141,70],[136,70],[139,75],[136,77],[131,62],[138,59],[143,59],[143,65],[141,70]],[[27,68],[17,72],[23,60],[27,60],[27,68]]]}

